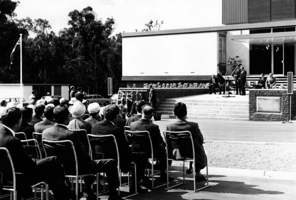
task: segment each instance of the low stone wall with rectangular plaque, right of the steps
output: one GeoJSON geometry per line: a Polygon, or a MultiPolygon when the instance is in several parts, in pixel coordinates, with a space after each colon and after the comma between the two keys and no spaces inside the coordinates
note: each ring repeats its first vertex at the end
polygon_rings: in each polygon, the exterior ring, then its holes
{"type": "MultiPolygon", "coordinates": [[[[290,95],[285,89],[250,89],[249,90],[249,119],[253,121],[289,121],[290,119],[290,95]],[[257,111],[256,99],[258,97],[271,97],[280,99],[280,112],[257,111]]],[[[268,98],[266,99],[268,101],[268,98]]],[[[291,115],[296,115],[296,91],[292,95],[291,115]]]]}

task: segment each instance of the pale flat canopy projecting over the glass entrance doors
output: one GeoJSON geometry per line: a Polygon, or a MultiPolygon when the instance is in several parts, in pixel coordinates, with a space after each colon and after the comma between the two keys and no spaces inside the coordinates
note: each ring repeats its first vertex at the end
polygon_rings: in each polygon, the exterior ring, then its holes
{"type": "Polygon", "coordinates": [[[296,31],[230,35],[231,40],[249,44],[296,42],[296,31]]]}

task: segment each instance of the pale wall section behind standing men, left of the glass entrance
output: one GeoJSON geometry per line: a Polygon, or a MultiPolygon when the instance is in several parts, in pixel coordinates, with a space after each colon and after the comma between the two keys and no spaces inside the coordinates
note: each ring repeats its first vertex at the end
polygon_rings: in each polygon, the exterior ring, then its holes
{"type": "MultiPolygon", "coordinates": [[[[250,48],[248,43],[244,42],[238,42],[235,40],[230,39],[230,35],[239,35],[239,34],[249,34],[249,30],[243,30],[242,32],[240,30],[236,31],[227,31],[226,35],[226,61],[229,57],[236,57],[239,56],[240,59],[242,59],[242,66],[245,67],[245,70],[247,71],[247,75],[250,74],[250,48]]],[[[231,66],[227,66],[226,71],[232,72],[230,69],[231,66]]],[[[228,73],[228,74],[230,74],[228,73]]]]}

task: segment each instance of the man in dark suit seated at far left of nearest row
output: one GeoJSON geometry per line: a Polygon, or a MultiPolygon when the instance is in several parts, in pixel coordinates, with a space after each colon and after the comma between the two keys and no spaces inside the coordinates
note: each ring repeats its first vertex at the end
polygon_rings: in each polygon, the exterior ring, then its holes
{"type": "MultiPolygon", "coordinates": [[[[65,174],[58,158],[51,156],[34,162],[23,149],[21,141],[14,137],[22,123],[21,117],[20,109],[8,108],[2,114],[3,125],[0,125],[0,147],[8,149],[15,172],[23,173],[16,176],[18,195],[30,197],[31,185],[44,181],[49,184],[56,200],[75,200],[75,195],[72,195],[70,187],[65,184],[65,174]]],[[[6,178],[8,181],[12,180],[9,175],[6,178]]]]}

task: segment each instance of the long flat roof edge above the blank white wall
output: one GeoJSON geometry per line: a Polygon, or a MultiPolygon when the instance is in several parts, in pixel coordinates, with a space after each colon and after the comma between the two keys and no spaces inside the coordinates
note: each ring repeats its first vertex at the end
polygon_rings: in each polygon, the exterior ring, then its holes
{"type": "Polygon", "coordinates": [[[286,20],[286,21],[276,21],[276,22],[225,25],[225,26],[217,26],[217,27],[200,27],[200,28],[190,28],[190,29],[169,29],[169,30],[158,30],[158,31],[123,32],[122,37],[188,34],[188,33],[199,33],[199,32],[220,32],[220,31],[247,30],[247,29],[267,29],[267,28],[280,28],[280,27],[293,27],[293,26],[296,26],[295,19],[294,20],[286,20]]]}

